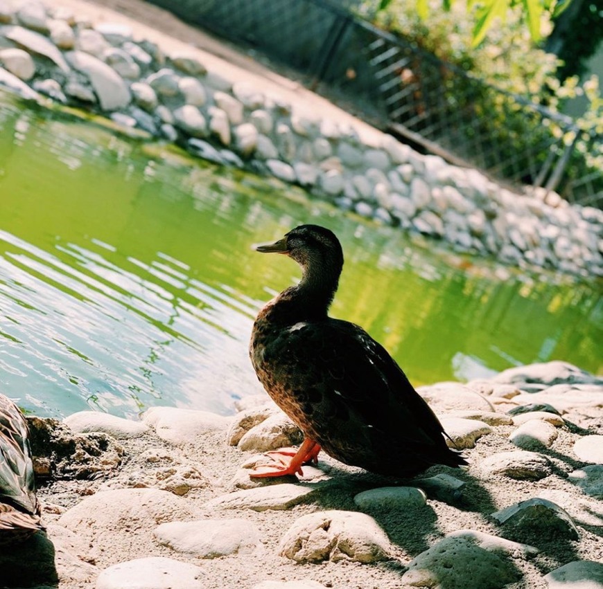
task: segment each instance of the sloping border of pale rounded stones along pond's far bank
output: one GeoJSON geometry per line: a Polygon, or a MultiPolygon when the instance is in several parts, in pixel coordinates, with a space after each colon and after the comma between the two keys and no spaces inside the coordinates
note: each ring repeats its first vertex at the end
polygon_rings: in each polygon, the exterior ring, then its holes
{"type": "Polygon", "coordinates": [[[458,251],[566,273],[603,275],[603,212],[554,192],[515,194],[473,169],[394,137],[308,116],[190,55],[166,55],[125,24],[93,24],[37,1],[0,3],[0,86],[99,112],[223,165],[306,188],[458,251]],[[375,137],[377,139],[375,139],[375,137]]]}

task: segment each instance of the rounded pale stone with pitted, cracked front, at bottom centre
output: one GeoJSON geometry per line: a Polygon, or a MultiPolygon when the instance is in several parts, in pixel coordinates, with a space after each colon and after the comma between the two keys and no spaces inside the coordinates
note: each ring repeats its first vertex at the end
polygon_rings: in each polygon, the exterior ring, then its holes
{"type": "Polygon", "coordinates": [[[390,558],[392,546],[383,529],[367,514],[318,511],[293,523],[281,540],[281,554],[298,563],[390,558]]]}

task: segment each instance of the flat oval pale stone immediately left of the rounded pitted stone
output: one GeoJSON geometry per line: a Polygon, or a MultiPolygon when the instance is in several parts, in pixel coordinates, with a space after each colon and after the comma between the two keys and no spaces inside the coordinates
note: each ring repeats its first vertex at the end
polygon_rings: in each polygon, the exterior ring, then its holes
{"type": "Polygon", "coordinates": [[[153,535],[160,544],[200,559],[251,554],[262,546],[257,526],[243,519],[162,523],[153,535]]]}

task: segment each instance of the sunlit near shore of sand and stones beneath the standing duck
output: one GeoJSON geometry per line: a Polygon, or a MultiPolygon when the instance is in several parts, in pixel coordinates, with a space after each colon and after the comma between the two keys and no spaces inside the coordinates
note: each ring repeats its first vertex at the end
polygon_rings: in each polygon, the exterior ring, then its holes
{"type": "Polygon", "coordinates": [[[418,391],[469,467],[403,480],[321,453],[300,480],[251,479],[262,452],[300,439],[266,395],[241,399],[231,417],[170,407],[141,421],[30,417],[47,539],[36,534],[0,555],[3,580],[40,589],[400,589],[434,579],[545,589],[565,587],[549,581],[569,565],[600,582],[603,378],[554,361],[418,391]]]}

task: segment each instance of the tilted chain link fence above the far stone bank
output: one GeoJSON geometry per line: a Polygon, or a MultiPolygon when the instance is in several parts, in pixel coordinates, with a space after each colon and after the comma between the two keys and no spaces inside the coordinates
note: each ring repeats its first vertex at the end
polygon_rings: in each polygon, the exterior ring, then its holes
{"type": "MultiPolygon", "coordinates": [[[[603,170],[568,142],[575,121],[485,84],[326,0],[151,0],[292,66],[378,127],[498,181],[603,207],[603,170]],[[565,138],[565,140],[564,140],[565,138]]],[[[593,134],[589,148],[603,149],[593,134]]]]}

